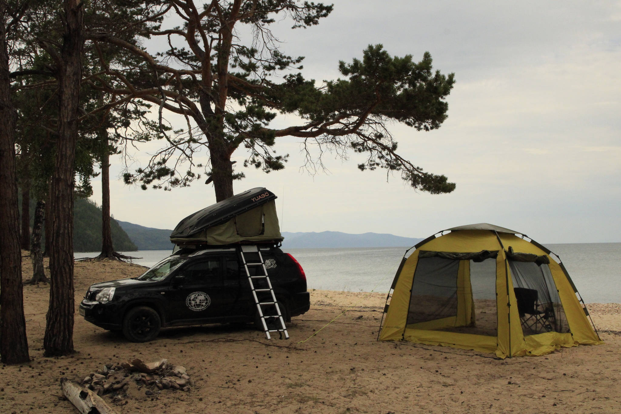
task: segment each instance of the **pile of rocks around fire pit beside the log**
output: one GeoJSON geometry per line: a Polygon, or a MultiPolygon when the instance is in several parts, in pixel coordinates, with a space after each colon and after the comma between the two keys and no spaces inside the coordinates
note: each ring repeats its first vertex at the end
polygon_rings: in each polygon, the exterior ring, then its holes
{"type": "Polygon", "coordinates": [[[194,381],[184,367],[168,364],[166,359],[149,364],[134,359],[119,364],[106,364],[99,371],[91,372],[82,380],[82,384],[99,396],[111,392],[125,394],[132,384],[138,390],[145,389],[146,395],[153,395],[167,389],[188,392],[194,386],[194,381]]]}

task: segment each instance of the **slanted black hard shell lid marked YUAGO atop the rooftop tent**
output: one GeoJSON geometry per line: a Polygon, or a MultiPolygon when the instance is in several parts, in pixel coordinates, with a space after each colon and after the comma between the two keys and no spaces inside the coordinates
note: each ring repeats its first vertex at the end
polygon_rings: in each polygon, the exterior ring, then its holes
{"type": "Polygon", "coordinates": [[[191,236],[206,228],[224,224],[237,215],[277,198],[276,194],[265,187],[256,187],[241,192],[237,196],[212,204],[184,218],[170,236],[171,238],[191,236]]]}

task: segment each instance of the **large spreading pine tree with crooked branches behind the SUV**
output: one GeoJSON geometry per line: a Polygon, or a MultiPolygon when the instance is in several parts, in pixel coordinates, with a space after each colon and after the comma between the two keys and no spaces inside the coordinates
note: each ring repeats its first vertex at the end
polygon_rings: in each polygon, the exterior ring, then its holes
{"type": "MultiPolygon", "coordinates": [[[[243,178],[243,173],[233,171],[230,160],[238,148],[248,151],[245,166],[269,173],[284,168],[288,156],[275,155],[273,146],[276,138],[289,136],[302,138],[308,154],[312,145],[319,146],[320,153],[325,149],[362,153],[366,161],[358,165],[361,170],[400,171],[420,191],[440,194],[455,189],[445,176],[426,173],[402,158],[387,128],[396,121],[431,130],[446,119],[444,99],[454,77],[434,72],[429,53],[415,62],[410,55],[391,56],[381,45],[369,45],[362,60],[339,63],[344,79],[317,85],[294,72],[278,83],[283,71],[302,69],[303,57],[281,52],[270,24],[279,14],[291,19],[294,28],[310,27],[327,17],[332,6],[296,0],[214,0],[204,5],[164,0],[160,9],[143,4],[145,17],[140,19],[143,27],[138,34],[175,37],[184,47],[169,42],[166,52],[149,53],[135,38],[128,40],[94,26],[87,35],[93,42],[123,48],[143,61],[126,66],[122,76],[108,71],[106,81],[94,76],[93,88],[159,106],[157,138],[165,145],[148,166],[127,171],[128,184],[140,184],[143,189],[153,183],[164,189],[187,186],[200,178],[197,169],[203,166],[194,162],[194,154],[206,148],[210,165],[205,173],[214,183],[216,200],[224,200],[233,196],[233,180],[243,178]],[[183,27],[160,30],[161,18],[169,11],[183,19],[183,27]],[[254,37],[237,38],[236,32],[253,32],[254,37]],[[188,128],[171,133],[165,122],[167,111],[183,115],[188,128]],[[271,128],[277,112],[295,114],[302,122],[271,128]]],[[[129,27],[135,16],[119,12],[115,19],[129,27]]],[[[307,158],[307,167],[318,164],[320,159],[307,158]]]]}

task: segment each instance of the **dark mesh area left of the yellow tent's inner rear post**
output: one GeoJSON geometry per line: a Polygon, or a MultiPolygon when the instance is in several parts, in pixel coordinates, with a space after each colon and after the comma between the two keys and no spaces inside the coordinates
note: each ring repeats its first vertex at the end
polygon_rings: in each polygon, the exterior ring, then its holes
{"type": "Polygon", "coordinates": [[[457,316],[457,274],[460,261],[419,258],[412,281],[407,325],[457,316]]]}

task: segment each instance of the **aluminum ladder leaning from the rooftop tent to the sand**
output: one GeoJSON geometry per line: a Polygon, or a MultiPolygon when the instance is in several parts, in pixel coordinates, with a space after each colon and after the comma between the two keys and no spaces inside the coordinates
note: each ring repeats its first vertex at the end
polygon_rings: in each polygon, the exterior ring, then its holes
{"type": "MultiPolygon", "coordinates": [[[[263,256],[261,255],[261,251],[258,246],[247,246],[242,245],[240,249],[240,256],[242,258],[243,268],[246,271],[246,276],[248,277],[248,283],[250,283],[250,289],[252,290],[252,295],[255,299],[256,304],[256,312],[258,312],[259,318],[261,320],[261,324],[263,325],[263,332],[265,333],[265,337],[268,340],[271,340],[270,332],[278,332],[280,335],[280,339],[289,339],[289,333],[287,332],[287,327],[284,325],[283,314],[280,312],[280,308],[278,306],[278,302],[276,302],[276,295],[274,295],[274,289],[271,286],[270,276],[268,276],[268,269],[265,268],[265,261],[263,260],[263,256]],[[252,263],[248,263],[245,254],[248,255],[252,263]],[[255,268],[256,271],[255,276],[250,275],[250,268],[255,268]],[[259,270],[263,271],[263,274],[258,274],[259,270]],[[257,289],[255,287],[255,282],[258,282],[259,285],[263,284],[263,287],[257,289]],[[258,295],[256,292],[270,292],[271,302],[260,302],[258,295]],[[263,307],[268,305],[274,305],[276,309],[276,315],[265,315],[263,313],[263,307]],[[276,326],[280,325],[278,329],[270,329],[268,328],[268,324],[266,319],[276,320],[276,326]]],[[[269,300],[269,299],[268,299],[269,300]]]]}

